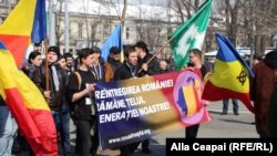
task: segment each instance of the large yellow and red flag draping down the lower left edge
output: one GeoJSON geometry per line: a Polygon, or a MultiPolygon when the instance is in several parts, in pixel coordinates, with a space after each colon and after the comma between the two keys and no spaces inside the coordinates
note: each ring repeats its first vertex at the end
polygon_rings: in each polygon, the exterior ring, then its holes
{"type": "MultiPolygon", "coordinates": [[[[50,108],[31,80],[19,71],[0,41],[0,94],[14,116],[20,132],[37,156],[58,156],[55,125],[50,108]]],[[[0,121],[0,124],[2,121],[0,121]]]]}

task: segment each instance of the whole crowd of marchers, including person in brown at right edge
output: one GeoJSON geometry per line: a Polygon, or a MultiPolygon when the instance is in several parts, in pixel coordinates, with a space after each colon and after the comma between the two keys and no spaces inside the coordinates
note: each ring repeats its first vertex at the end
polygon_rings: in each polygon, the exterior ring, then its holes
{"type": "MultiPolygon", "coordinates": [[[[195,72],[204,81],[211,66],[202,62],[202,51],[189,51],[189,62],[183,70],[195,72]]],[[[78,58],[70,53],[60,53],[58,46],[48,49],[45,60],[42,60],[40,50],[30,53],[22,71],[33,81],[41,94],[48,101],[58,132],[61,154],[72,155],[70,141],[70,118],[76,127],[75,153],[80,156],[95,156],[99,147],[98,117],[94,97],[94,84],[135,77],[151,76],[173,72],[167,60],[158,60],[150,53],[145,42],[124,48],[124,62],[121,62],[121,50],[110,49],[106,61],[101,58],[98,46],[78,51],[78,58]],[[49,77],[47,77],[47,72],[49,77]],[[47,83],[47,81],[49,81],[47,83]],[[49,85],[49,86],[48,86],[49,85]]],[[[255,61],[252,81],[252,97],[255,106],[255,123],[260,137],[277,136],[277,51],[268,53],[265,59],[255,61]]],[[[234,114],[238,115],[236,100],[234,114]]],[[[224,101],[223,115],[227,114],[228,100],[224,101]]],[[[0,155],[11,155],[14,136],[20,136],[11,112],[0,96],[0,155]]],[[[196,138],[199,124],[186,127],[186,137],[196,138]]],[[[21,138],[23,139],[23,138],[21,138]]],[[[17,141],[17,139],[16,139],[17,141]]],[[[14,141],[14,142],[16,142],[14,141]]],[[[21,143],[22,144],[22,143],[21,143]]],[[[28,143],[25,143],[28,146],[28,143]]],[[[121,156],[131,156],[142,144],[142,152],[152,153],[150,139],[120,146],[121,156]]],[[[34,155],[28,147],[30,155],[34,155]]]]}

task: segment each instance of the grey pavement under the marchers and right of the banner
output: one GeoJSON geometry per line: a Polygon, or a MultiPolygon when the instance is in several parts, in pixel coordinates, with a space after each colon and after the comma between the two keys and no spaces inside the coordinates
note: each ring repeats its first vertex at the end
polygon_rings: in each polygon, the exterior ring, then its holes
{"type": "MultiPolygon", "coordinates": [[[[254,122],[254,114],[239,102],[239,115],[233,114],[233,104],[229,101],[229,108],[227,115],[220,115],[222,101],[213,102],[207,107],[212,115],[212,121],[203,123],[199,126],[197,137],[201,138],[258,138],[254,122]]],[[[71,124],[71,141],[74,148],[74,126],[71,124]]],[[[160,134],[151,138],[150,147],[152,154],[142,154],[141,147],[137,148],[134,156],[165,156],[165,141],[166,138],[184,138],[185,128],[160,134]]],[[[74,152],[74,149],[72,149],[74,152]]],[[[98,156],[117,156],[119,150],[106,149],[98,153],[98,156]]],[[[18,156],[28,156],[27,152],[19,154],[18,156]]],[[[78,156],[78,155],[73,155],[78,156]]]]}

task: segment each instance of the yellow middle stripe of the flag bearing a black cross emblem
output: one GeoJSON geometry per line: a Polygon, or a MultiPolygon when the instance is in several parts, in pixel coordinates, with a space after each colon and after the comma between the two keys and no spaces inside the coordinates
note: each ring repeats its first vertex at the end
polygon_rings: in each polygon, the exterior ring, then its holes
{"type": "Polygon", "coordinates": [[[247,71],[238,60],[233,62],[215,60],[215,63],[214,74],[209,79],[213,84],[238,93],[249,92],[249,79],[244,77],[247,71]]]}

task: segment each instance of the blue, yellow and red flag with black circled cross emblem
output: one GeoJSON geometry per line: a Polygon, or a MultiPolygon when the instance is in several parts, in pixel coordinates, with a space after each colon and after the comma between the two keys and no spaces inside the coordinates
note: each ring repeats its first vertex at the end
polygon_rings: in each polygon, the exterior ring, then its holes
{"type": "Polygon", "coordinates": [[[254,113],[249,96],[249,76],[254,76],[247,63],[234,45],[222,34],[216,34],[219,50],[214,64],[214,73],[207,79],[203,100],[240,100],[254,113]]]}

